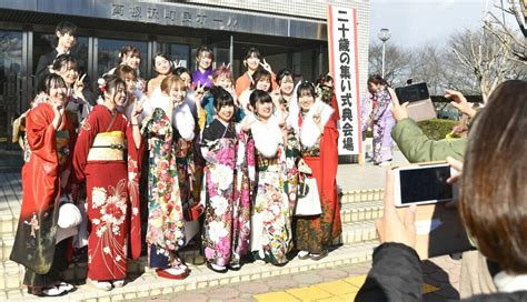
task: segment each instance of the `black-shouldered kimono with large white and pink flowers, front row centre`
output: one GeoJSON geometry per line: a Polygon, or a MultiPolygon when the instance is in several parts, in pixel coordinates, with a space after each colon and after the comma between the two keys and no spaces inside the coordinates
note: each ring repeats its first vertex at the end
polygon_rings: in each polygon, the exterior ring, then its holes
{"type": "Polygon", "coordinates": [[[207,161],[202,246],[207,261],[219,266],[239,264],[249,251],[249,170],[255,165],[250,150],[235,123],[215,119],[202,132],[201,153],[207,161]]]}

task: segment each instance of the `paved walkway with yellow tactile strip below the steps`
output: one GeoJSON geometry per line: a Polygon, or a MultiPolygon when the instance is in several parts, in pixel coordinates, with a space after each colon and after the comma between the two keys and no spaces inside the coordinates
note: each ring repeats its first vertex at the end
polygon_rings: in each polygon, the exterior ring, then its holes
{"type": "MultiPolygon", "coordinates": [[[[422,285],[425,302],[458,301],[460,261],[440,256],[424,261],[422,285]]],[[[339,269],[322,269],[297,274],[235,283],[203,290],[175,293],[139,300],[147,301],[354,301],[364,284],[370,266],[349,265],[339,269]]]]}

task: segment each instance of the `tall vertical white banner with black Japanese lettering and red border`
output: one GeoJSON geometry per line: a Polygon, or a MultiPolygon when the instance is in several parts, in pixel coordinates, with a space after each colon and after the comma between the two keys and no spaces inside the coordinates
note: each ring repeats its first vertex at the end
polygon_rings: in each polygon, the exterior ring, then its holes
{"type": "Polygon", "coordinates": [[[339,155],[360,154],[360,98],[357,13],[328,6],[329,71],[340,113],[339,155]]]}

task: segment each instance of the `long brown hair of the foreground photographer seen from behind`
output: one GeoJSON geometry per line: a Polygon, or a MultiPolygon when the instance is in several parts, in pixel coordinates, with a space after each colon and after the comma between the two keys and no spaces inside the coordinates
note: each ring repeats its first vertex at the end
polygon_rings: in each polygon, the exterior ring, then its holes
{"type": "Polygon", "coordinates": [[[527,81],[498,85],[465,153],[459,209],[478,249],[500,269],[527,273],[527,81]]]}

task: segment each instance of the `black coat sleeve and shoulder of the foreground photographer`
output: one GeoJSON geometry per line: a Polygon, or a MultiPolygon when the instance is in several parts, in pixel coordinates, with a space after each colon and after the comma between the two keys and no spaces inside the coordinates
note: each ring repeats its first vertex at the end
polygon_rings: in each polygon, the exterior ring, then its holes
{"type": "MultiPolygon", "coordinates": [[[[421,265],[416,251],[401,243],[382,243],[374,251],[372,268],[355,301],[422,301],[422,283],[421,265]]],[[[463,301],[527,302],[527,291],[480,294],[463,301]]]]}

